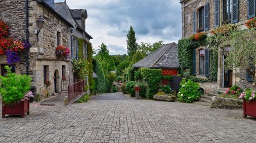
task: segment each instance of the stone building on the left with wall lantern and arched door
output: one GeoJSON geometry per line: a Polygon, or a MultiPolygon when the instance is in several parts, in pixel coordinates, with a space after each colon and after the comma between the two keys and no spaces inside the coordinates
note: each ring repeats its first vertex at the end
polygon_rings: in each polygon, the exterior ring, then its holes
{"type": "MultiPolygon", "coordinates": [[[[61,92],[62,77],[73,80],[71,58],[75,58],[77,51],[72,37],[81,34],[77,37],[86,41],[92,38],[85,32],[85,19],[86,16],[80,18],[81,23],[84,20],[84,28],[77,28],[79,24],[75,26],[76,21],[73,23],[55,10],[54,0],[0,1],[0,20],[9,25],[10,37],[26,39],[32,44],[22,61],[13,67],[16,73],[27,73],[32,77],[34,93],[47,97],[61,92]],[[43,20],[42,29],[37,24],[39,20],[43,20]],[[58,57],[55,54],[58,45],[68,46],[73,57],[58,57]],[[46,80],[52,85],[46,86],[46,80]]],[[[7,64],[5,55],[0,55],[0,64],[3,72],[2,68],[7,64]]]]}

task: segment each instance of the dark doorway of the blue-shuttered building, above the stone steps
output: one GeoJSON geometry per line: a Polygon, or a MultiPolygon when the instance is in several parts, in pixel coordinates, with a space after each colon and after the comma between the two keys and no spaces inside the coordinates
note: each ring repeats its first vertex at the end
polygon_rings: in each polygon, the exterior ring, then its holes
{"type": "Polygon", "coordinates": [[[233,71],[225,69],[226,55],[222,55],[222,81],[223,87],[229,88],[233,85],[233,71]]]}

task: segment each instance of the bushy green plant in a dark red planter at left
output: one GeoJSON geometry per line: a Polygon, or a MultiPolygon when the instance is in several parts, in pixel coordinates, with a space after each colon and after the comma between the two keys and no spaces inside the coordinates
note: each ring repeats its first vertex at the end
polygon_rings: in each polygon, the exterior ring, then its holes
{"type": "Polygon", "coordinates": [[[5,66],[7,70],[6,76],[0,76],[1,84],[0,94],[2,96],[2,118],[6,114],[22,115],[22,118],[29,114],[30,102],[29,98],[34,97],[31,88],[31,77],[27,75],[17,75],[11,73],[11,68],[5,66]]]}

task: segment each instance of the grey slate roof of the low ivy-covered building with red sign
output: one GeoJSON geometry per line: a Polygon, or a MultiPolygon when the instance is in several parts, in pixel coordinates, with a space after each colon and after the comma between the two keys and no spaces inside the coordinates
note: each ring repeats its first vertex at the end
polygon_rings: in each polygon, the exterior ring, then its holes
{"type": "Polygon", "coordinates": [[[163,45],[144,59],[133,64],[138,68],[180,68],[175,42],[163,45]]]}

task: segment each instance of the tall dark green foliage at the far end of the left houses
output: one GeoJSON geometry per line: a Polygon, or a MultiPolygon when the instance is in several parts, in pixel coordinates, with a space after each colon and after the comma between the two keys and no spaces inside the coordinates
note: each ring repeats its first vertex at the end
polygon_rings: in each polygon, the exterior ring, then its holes
{"type": "Polygon", "coordinates": [[[98,76],[95,79],[97,93],[103,93],[105,86],[105,73],[101,65],[98,63],[97,59],[93,59],[93,71],[98,76]]]}

